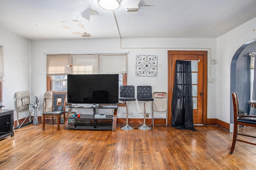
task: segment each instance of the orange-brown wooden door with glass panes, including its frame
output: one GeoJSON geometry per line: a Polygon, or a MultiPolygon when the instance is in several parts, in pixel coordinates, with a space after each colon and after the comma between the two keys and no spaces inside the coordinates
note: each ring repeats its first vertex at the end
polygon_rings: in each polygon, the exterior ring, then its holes
{"type": "Polygon", "coordinates": [[[171,125],[172,89],[176,60],[192,61],[193,121],[207,121],[207,51],[168,51],[168,125],[171,125]]]}

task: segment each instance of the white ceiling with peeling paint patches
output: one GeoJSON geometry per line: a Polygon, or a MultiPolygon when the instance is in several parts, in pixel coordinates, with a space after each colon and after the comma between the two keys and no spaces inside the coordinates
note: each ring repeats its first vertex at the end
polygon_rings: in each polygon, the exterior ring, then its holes
{"type": "Polygon", "coordinates": [[[217,38],[256,17],[256,0],[0,0],[0,27],[27,39],[217,38]],[[86,10],[96,10],[86,20],[86,10]],[[83,16],[82,16],[83,14],[83,16]],[[85,18],[84,18],[85,17],[85,18]],[[88,36],[88,37],[86,37],[88,36]]]}

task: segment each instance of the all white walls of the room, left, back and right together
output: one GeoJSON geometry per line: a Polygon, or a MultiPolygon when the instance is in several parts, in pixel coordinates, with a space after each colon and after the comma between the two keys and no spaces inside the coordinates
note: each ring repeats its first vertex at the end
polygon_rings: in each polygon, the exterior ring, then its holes
{"type": "MultiPolygon", "coordinates": [[[[211,77],[214,78],[214,82],[208,83],[208,118],[217,118],[230,123],[231,60],[240,46],[256,38],[254,29],[256,29],[256,18],[217,39],[42,40],[31,41],[30,51],[28,39],[0,28],[0,44],[4,45],[5,65],[2,101],[4,109],[15,109],[14,94],[18,91],[29,90],[31,100],[34,96],[38,96],[42,101],[46,91],[46,55],[44,53],[128,52],[128,84],[134,86],[148,84],[152,86],[153,91],[167,91],[167,51],[207,50],[208,76],[211,68],[211,77]],[[158,76],[136,77],[136,55],[158,55],[158,76]],[[209,64],[210,57],[216,59],[215,65],[209,64]]],[[[130,106],[130,111],[135,115],[142,111],[142,104],[138,102],[131,103],[130,106]]],[[[124,111],[123,108],[120,109],[124,111]]],[[[122,116],[120,115],[122,111],[118,112],[119,117],[122,116]]],[[[38,115],[42,115],[41,112],[42,102],[38,115]]],[[[26,117],[26,113],[21,113],[20,118],[22,117],[26,117]]]]}

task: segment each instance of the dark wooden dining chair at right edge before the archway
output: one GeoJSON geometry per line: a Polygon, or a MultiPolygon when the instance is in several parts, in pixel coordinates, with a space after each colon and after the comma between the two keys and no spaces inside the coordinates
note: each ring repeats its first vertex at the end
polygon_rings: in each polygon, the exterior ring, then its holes
{"type": "Polygon", "coordinates": [[[238,135],[256,138],[256,136],[239,133],[239,125],[256,127],[256,115],[239,115],[237,92],[232,93],[232,100],[233,100],[233,107],[234,107],[234,135],[233,135],[232,146],[229,152],[230,154],[232,154],[234,151],[236,141],[248,143],[251,145],[256,145],[256,143],[251,143],[242,139],[238,139],[238,135]]]}

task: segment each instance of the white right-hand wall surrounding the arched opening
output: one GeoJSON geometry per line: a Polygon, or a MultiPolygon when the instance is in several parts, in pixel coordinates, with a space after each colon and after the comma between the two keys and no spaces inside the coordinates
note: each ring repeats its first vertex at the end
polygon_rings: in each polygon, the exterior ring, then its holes
{"type": "MultiPolygon", "coordinates": [[[[256,18],[217,38],[217,119],[230,123],[230,65],[239,47],[256,38],[256,18]]],[[[232,131],[233,126],[230,125],[232,131]]]]}

